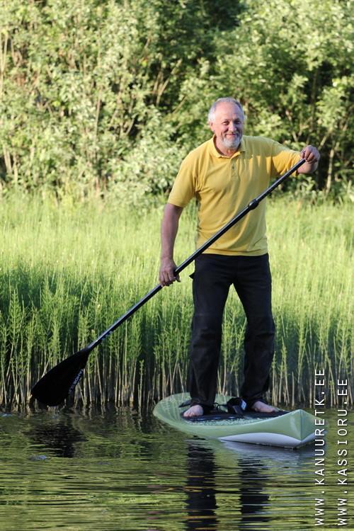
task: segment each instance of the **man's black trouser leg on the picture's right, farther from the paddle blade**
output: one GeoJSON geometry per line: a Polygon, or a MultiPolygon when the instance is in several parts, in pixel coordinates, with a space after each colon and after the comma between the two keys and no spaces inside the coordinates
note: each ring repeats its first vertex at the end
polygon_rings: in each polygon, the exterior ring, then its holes
{"type": "Polygon", "coordinates": [[[246,401],[256,401],[268,390],[274,355],[271,275],[268,254],[240,258],[243,260],[240,261],[234,287],[247,318],[241,396],[246,401]]]}

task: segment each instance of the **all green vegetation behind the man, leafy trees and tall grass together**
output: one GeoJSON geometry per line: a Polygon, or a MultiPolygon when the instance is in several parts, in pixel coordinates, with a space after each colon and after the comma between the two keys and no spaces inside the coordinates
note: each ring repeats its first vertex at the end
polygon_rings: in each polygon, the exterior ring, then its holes
{"type": "MultiPolygon", "coordinates": [[[[311,400],[316,366],[332,386],[352,375],[350,4],[0,0],[0,403],[25,404],[43,372],[156,284],[161,198],[226,95],[243,103],[247,134],[321,151],[314,176],[285,183],[296,202],[270,207],[271,398],[311,400]]],[[[178,261],[193,251],[194,213],[178,261]]],[[[183,279],[91,355],[77,401],[142,404],[183,389],[183,279]]],[[[239,389],[244,325],[230,297],[222,391],[239,389]]]]}

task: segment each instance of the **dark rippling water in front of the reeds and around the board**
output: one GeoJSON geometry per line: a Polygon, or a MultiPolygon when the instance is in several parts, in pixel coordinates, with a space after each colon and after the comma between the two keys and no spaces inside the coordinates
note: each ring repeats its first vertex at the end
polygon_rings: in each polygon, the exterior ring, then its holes
{"type": "Polygon", "coordinates": [[[200,440],[130,411],[0,411],[0,530],[334,530],[337,498],[348,509],[340,527],[353,529],[350,486],[336,484],[350,469],[338,467],[338,448],[353,467],[353,421],[338,445],[337,412],[326,411],[316,486],[314,445],[200,440]],[[315,498],[325,525],[315,525],[315,498]]]}

